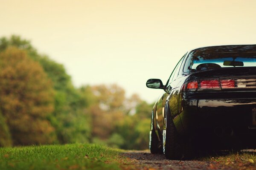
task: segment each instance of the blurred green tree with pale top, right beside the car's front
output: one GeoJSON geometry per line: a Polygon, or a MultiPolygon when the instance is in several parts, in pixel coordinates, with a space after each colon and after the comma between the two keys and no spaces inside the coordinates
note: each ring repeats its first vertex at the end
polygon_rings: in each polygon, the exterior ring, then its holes
{"type": "Polygon", "coordinates": [[[124,139],[119,147],[139,150],[148,148],[152,107],[153,104],[148,104],[135,94],[127,99],[128,114],[115,127],[116,133],[124,139]]]}

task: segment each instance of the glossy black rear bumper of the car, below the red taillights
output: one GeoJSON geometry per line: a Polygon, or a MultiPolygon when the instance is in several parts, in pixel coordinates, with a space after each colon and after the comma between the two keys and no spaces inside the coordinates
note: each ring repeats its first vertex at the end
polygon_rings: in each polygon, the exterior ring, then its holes
{"type": "Polygon", "coordinates": [[[256,148],[256,98],[182,99],[180,119],[186,137],[200,146],[256,148]]]}

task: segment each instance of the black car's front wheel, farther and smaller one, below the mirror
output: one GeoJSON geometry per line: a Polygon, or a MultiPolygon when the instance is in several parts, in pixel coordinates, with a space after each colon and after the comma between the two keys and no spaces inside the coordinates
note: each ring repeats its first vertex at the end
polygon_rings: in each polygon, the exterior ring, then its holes
{"type": "Polygon", "coordinates": [[[149,149],[152,154],[163,153],[163,147],[161,142],[158,140],[157,133],[154,130],[153,113],[151,119],[151,130],[149,132],[149,149]]]}

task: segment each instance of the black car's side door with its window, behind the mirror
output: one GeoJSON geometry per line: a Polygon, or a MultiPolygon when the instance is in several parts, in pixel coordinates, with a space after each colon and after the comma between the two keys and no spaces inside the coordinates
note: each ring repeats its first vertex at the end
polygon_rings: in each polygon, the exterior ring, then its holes
{"type": "Polygon", "coordinates": [[[157,119],[157,127],[158,129],[160,129],[160,131],[162,132],[163,130],[163,113],[164,113],[164,107],[166,104],[166,99],[169,96],[170,93],[172,93],[172,80],[174,79],[174,76],[176,75],[177,71],[180,70],[180,65],[183,61],[184,56],[180,59],[180,61],[177,63],[177,65],[175,66],[174,70],[172,71],[171,76],[169,77],[165,88],[165,92],[162,94],[162,96],[160,96],[157,100],[157,111],[156,111],[156,119],[157,119]],[[169,83],[170,82],[170,83],[169,83]]]}

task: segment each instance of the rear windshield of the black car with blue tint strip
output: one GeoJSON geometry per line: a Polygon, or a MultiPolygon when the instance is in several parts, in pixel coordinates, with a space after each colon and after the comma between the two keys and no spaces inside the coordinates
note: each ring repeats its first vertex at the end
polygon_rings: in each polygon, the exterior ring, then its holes
{"type": "Polygon", "coordinates": [[[203,71],[227,67],[256,67],[256,46],[245,48],[212,47],[191,51],[184,71],[203,71]],[[252,48],[253,47],[253,48],[252,48]]]}

